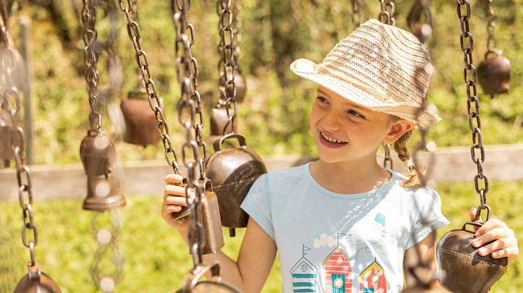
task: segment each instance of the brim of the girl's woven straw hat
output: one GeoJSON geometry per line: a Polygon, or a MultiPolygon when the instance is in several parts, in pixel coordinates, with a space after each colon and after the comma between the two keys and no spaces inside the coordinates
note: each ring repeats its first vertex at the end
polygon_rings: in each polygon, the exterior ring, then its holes
{"type": "Polygon", "coordinates": [[[379,92],[369,89],[366,85],[354,83],[354,81],[341,80],[339,76],[334,76],[325,69],[321,69],[319,64],[311,60],[297,59],[290,65],[290,70],[297,76],[326,87],[359,106],[408,120],[416,128],[425,129],[440,120],[440,117],[428,110],[423,110],[416,119],[419,107],[409,103],[397,103],[388,97],[378,99],[376,95],[381,95],[379,92]]]}

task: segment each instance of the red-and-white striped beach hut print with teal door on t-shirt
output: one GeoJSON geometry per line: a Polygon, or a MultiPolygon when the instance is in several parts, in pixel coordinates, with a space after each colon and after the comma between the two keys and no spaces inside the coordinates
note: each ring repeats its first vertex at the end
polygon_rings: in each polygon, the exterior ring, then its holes
{"type": "Polygon", "coordinates": [[[323,262],[325,266],[325,292],[351,293],[353,285],[353,262],[341,250],[335,248],[323,262]]]}

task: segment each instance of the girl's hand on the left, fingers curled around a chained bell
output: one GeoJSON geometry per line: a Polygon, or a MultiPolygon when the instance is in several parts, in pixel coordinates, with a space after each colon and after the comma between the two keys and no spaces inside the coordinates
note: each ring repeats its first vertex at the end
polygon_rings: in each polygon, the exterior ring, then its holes
{"type": "MultiPolygon", "coordinates": [[[[182,183],[183,177],[177,174],[165,176],[165,188],[163,189],[162,217],[165,222],[175,227],[180,232],[189,230],[191,217],[184,217],[182,221],[175,220],[172,213],[182,210],[182,206],[187,206],[185,200],[185,187],[175,185],[182,183]]],[[[189,199],[189,203],[192,199],[189,199]]]]}

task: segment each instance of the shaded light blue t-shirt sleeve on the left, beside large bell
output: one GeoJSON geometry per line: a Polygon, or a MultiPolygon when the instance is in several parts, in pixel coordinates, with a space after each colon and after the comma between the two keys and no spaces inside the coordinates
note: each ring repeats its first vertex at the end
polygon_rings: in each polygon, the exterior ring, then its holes
{"type": "Polygon", "coordinates": [[[254,181],[240,207],[276,241],[271,216],[269,176],[267,174],[259,176],[259,178],[254,181]]]}

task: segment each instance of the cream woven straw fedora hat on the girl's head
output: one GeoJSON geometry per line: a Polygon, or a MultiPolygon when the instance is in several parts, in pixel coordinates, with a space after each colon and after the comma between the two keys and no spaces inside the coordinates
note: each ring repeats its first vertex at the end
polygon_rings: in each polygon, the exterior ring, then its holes
{"type": "Polygon", "coordinates": [[[409,120],[424,129],[440,120],[423,110],[432,73],[428,51],[409,32],[368,20],[332,48],[320,64],[297,59],[290,69],[345,99],[371,110],[409,120]]]}

